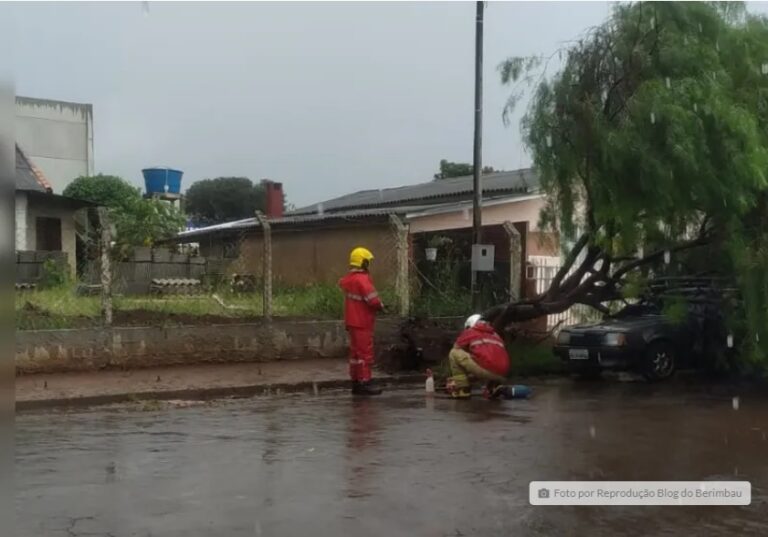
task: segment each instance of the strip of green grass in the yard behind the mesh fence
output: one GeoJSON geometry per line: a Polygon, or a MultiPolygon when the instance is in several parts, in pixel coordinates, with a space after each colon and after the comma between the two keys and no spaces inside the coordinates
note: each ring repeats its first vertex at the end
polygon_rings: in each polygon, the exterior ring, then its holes
{"type": "MultiPolygon", "coordinates": [[[[115,296],[116,315],[136,312],[137,315],[181,317],[258,318],[263,314],[263,299],[259,293],[235,295],[222,290],[216,295],[200,296],[115,296]]],[[[381,290],[385,304],[394,306],[394,293],[381,290]]],[[[56,289],[38,289],[15,294],[17,330],[46,330],[98,326],[101,316],[101,298],[80,296],[73,286],[56,289]]],[[[342,294],[335,285],[306,287],[279,287],[273,293],[275,316],[340,319],[343,315],[342,294]]],[[[119,323],[119,318],[118,321],[119,323]]],[[[156,321],[155,321],[156,322],[156,321]]]]}

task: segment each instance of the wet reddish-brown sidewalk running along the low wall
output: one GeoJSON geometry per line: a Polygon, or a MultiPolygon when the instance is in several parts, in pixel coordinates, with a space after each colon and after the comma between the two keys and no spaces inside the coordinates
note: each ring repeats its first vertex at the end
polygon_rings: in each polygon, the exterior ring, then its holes
{"type": "MultiPolygon", "coordinates": [[[[376,378],[391,385],[421,381],[423,375],[379,374],[376,378]]],[[[24,375],[16,378],[16,409],[249,397],[346,388],[348,382],[347,361],[329,358],[24,375]]]]}

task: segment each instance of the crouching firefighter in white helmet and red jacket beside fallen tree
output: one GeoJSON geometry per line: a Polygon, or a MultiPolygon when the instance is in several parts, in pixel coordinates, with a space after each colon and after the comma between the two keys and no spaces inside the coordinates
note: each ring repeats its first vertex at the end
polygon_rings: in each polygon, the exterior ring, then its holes
{"type": "Polygon", "coordinates": [[[448,361],[451,377],[446,388],[452,397],[468,399],[472,394],[470,379],[486,381],[489,397],[502,395],[509,373],[509,355],[504,340],[480,315],[466,320],[448,361]]]}

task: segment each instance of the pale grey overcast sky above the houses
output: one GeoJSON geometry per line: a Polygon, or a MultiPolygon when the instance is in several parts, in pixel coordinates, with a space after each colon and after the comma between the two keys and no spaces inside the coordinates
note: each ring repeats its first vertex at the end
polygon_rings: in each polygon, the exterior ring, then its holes
{"type": "MultiPolygon", "coordinates": [[[[8,6],[6,6],[8,7],[8,6]]],[[[752,4],[768,12],[766,4],[752,4]]],[[[19,95],[92,103],[96,171],[282,181],[305,205],[470,162],[474,2],[15,4],[19,95]]],[[[483,160],[530,162],[496,67],[551,53],[603,2],[492,2],[483,160]]]]}

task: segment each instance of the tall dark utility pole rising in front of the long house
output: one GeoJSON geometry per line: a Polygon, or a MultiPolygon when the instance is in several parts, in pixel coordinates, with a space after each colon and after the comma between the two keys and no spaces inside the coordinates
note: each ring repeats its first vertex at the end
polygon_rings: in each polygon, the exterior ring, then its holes
{"type": "MultiPolygon", "coordinates": [[[[475,139],[473,150],[473,200],[472,200],[472,244],[483,242],[483,186],[480,174],[483,168],[483,14],[485,2],[477,2],[475,18],[475,139]]],[[[474,257],[474,248],[473,248],[474,257]]],[[[472,270],[472,307],[480,307],[480,286],[477,271],[472,270]]]]}

